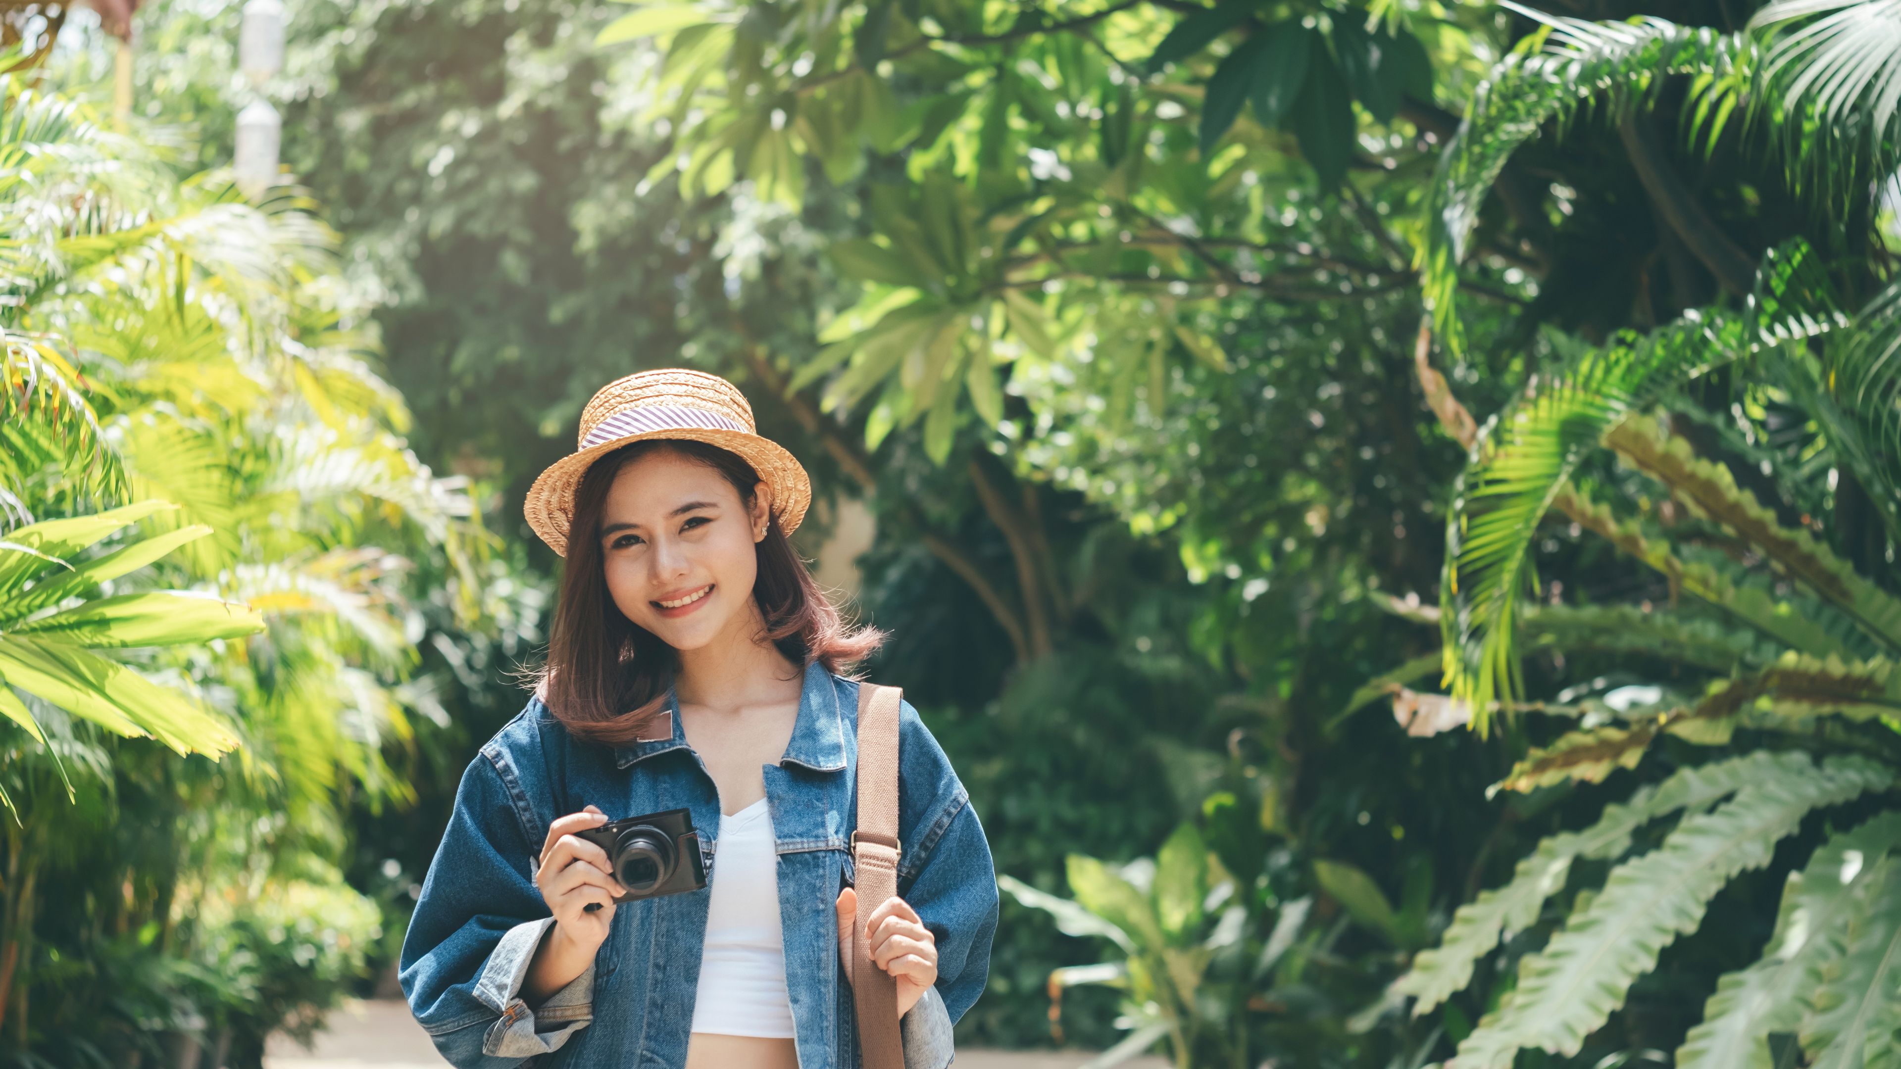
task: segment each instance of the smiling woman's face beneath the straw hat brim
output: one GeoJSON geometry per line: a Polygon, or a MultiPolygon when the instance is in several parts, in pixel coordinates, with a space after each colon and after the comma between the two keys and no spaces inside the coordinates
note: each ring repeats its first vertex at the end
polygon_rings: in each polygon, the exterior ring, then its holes
{"type": "Polygon", "coordinates": [[[614,476],[601,510],[601,561],[620,611],[679,651],[758,624],[755,544],[766,536],[772,498],[753,489],[753,510],[713,468],[656,449],[614,476]]]}

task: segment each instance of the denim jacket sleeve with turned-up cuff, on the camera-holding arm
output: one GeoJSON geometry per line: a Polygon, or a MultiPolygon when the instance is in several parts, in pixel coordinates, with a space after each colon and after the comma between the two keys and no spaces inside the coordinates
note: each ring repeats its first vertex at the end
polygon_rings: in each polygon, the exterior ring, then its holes
{"type": "Polygon", "coordinates": [[[511,782],[489,748],[470,763],[403,936],[403,997],[458,1069],[509,1069],[593,1020],[593,966],[536,1008],[521,999],[555,919],[534,886],[540,843],[511,782]]]}

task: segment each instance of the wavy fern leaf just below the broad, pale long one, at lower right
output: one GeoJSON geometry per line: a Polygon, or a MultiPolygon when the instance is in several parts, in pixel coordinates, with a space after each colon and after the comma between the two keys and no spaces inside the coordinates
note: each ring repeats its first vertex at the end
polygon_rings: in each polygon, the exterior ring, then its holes
{"type": "Polygon", "coordinates": [[[1840,961],[1833,938],[1869,905],[1871,881],[1891,883],[1901,812],[1884,812],[1823,843],[1783,886],[1762,959],[1717,983],[1703,1020],[1677,1048],[1677,1069],[1774,1069],[1770,1033],[1795,1033],[1823,968],[1840,961]]]}

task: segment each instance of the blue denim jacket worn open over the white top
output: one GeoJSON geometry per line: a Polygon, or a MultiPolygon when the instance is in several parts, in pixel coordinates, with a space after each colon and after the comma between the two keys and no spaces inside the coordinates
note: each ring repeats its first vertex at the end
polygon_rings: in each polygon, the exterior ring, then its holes
{"type": "MultiPolygon", "coordinates": [[[[399,980],[416,1020],[460,1069],[658,1069],[686,1061],[709,890],[624,902],[593,964],[538,1008],[523,978],[553,924],[534,886],[547,826],[597,805],[610,818],[692,810],[707,879],[719,879],[720,805],[686,746],[669,692],[671,738],[631,746],[570,736],[538,698],[509,721],[456,791],[403,938],[399,980]]],[[[764,767],[778,837],[785,985],[800,1069],[854,1069],[857,1021],[838,961],[833,900],[852,883],[857,822],[857,683],[812,662],[798,719],[764,767]]],[[[911,702],[899,719],[897,894],[937,938],[937,983],[905,1014],[907,1069],[949,1065],[950,1025],[977,1001],[996,932],[990,846],[950,761],[911,702]]]]}

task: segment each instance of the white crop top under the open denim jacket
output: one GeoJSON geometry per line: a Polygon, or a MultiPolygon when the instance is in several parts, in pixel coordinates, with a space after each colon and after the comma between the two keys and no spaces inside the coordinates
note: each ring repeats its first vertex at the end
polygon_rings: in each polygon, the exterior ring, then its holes
{"type": "Polygon", "coordinates": [[[766,799],[720,814],[692,1031],[793,1039],[778,864],[766,799]]]}

